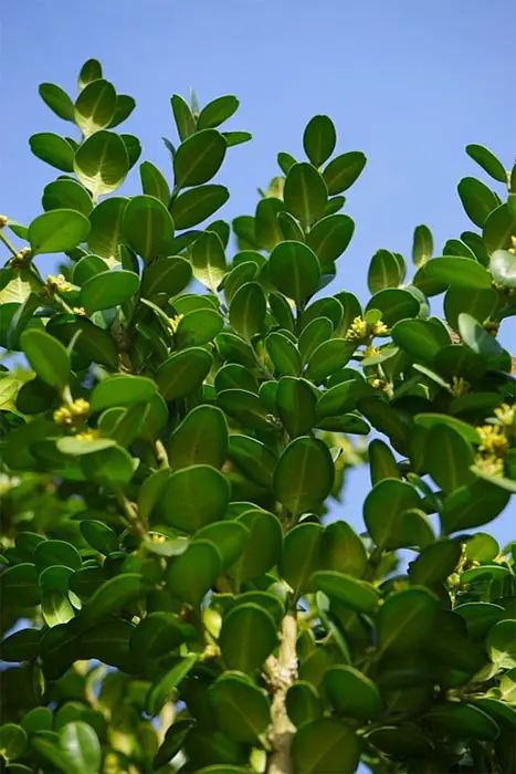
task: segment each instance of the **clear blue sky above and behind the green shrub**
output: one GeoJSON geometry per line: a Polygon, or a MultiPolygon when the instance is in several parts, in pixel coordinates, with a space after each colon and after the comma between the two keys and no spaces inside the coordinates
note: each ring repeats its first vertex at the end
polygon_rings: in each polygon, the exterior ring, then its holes
{"type": "MultiPolygon", "coordinates": [[[[164,171],[170,160],[160,137],[175,137],[173,93],[188,96],[193,86],[202,103],[240,97],[229,128],[254,140],[232,149],[219,176],[231,189],[225,218],[254,211],[256,186],[278,174],[277,151],[301,155],[305,124],[327,113],[338,150],[368,157],[346,206],[356,234],[330,289],[365,300],[377,249],[409,258],[413,228],[424,222],[439,254],[472,228],[456,184],[483,172],[465,155],[467,143],[514,164],[515,29],[512,0],[2,0],[0,210],[25,223],[41,212],[41,191],[56,174],[32,157],[28,138],[66,125],[38,85],[75,94],[89,57],[136,98],[124,132],[140,137],[143,159],[164,171]]],[[[139,192],[136,171],[126,190],[139,192]]],[[[502,332],[513,353],[514,320],[502,332]]],[[[339,511],[359,526],[367,485],[367,472],[354,472],[339,511]]],[[[516,536],[514,501],[485,527],[501,542],[516,536]]]]}

